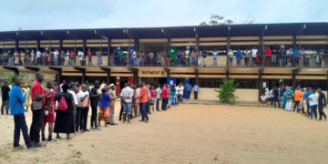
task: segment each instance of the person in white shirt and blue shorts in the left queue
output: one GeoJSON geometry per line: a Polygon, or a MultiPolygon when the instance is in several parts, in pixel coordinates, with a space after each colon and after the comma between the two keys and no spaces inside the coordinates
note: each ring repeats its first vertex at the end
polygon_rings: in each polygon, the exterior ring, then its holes
{"type": "Polygon", "coordinates": [[[131,83],[128,83],[128,87],[125,87],[120,96],[123,98],[123,123],[126,121],[127,113],[128,113],[128,123],[131,123],[129,119],[131,118],[132,112],[132,97],[133,97],[133,89],[131,88],[131,83]]]}

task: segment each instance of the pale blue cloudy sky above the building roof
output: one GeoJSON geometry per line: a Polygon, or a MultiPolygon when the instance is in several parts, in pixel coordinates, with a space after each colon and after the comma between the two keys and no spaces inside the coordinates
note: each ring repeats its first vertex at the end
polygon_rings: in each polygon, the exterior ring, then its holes
{"type": "Polygon", "coordinates": [[[328,0],[0,0],[0,31],[328,22],[328,0]]]}

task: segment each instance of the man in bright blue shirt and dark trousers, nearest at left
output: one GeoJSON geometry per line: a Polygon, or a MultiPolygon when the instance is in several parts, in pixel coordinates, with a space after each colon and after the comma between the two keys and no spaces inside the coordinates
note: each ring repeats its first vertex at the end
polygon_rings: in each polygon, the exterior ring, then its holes
{"type": "Polygon", "coordinates": [[[15,130],[14,130],[14,149],[23,149],[19,145],[20,130],[22,130],[24,140],[26,142],[26,150],[36,151],[37,149],[32,147],[31,139],[28,137],[26,118],[24,116],[25,108],[23,104],[26,102],[26,98],[23,96],[22,90],[19,87],[21,85],[20,77],[12,78],[13,87],[10,90],[9,106],[10,113],[14,116],[15,130]]]}

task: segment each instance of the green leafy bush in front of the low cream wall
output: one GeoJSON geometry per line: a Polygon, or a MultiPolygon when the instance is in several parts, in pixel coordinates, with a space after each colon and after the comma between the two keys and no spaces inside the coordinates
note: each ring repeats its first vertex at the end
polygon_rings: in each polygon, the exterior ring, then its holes
{"type": "Polygon", "coordinates": [[[223,84],[220,85],[220,89],[215,89],[216,92],[219,92],[220,100],[222,102],[231,102],[235,99],[239,98],[234,95],[234,92],[236,91],[236,87],[238,87],[239,84],[234,84],[234,79],[228,79],[223,78],[223,84]]]}

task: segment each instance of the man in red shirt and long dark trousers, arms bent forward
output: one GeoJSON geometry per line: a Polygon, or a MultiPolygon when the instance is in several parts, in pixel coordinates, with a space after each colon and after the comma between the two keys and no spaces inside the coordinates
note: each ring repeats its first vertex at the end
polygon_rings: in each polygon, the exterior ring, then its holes
{"type": "Polygon", "coordinates": [[[44,73],[41,71],[36,72],[36,80],[32,84],[31,95],[32,95],[32,124],[30,128],[30,138],[34,143],[34,147],[45,147],[44,144],[40,142],[40,130],[42,128],[43,119],[45,111],[44,107],[37,106],[34,104],[42,103],[42,99],[45,97],[52,97],[50,91],[46,91],[44,94],[44,90],[41,86],[41,82],[44,80],[44,73]]]}

